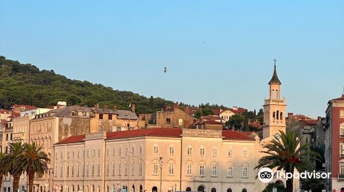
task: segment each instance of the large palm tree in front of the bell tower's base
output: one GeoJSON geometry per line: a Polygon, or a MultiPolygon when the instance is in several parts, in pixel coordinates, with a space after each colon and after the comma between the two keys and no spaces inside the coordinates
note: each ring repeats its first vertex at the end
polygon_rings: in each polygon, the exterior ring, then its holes
{"type": "MultiPolygon", "coordinates": [[[[315,166],[313,160],[319,160],[319,154],[310,150],[310,145],[299,145],[301,138],[297,137],[294,132],[284,133],[280,131],[280,138],[275,137],[264,145],[266,154],[258,161],[255,169],[268,167],[270,169],[277,168],[286,172],[294,173],[294,169],[302,172],[305,170],[313,171],[315,166]]],[[[292,192],[292,179],[286,181],[286,192],[292,192]]]]}

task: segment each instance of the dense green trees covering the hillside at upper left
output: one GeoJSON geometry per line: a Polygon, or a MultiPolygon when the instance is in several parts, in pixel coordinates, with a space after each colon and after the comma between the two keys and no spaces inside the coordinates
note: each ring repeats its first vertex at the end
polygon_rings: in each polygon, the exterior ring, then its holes
{"type": "Polygon", "coordinates": [[[21,64],[0,56],[0,108],[12,104],[29,104],[37,107],[55,106],[57,101],[67,105],[93,107],[95,104],[128,109],[136,102],[136,112],[154,112],[165,104],[162,98],[147,98],[131,91],[118,91],[102,84],[70,80],[53,70],[39,70],[32,64],[21,64]]]}

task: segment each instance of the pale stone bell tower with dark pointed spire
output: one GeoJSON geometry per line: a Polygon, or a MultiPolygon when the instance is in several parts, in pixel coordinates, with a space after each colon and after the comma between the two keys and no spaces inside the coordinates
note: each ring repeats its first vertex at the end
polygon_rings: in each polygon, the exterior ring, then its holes
{"type": "Polygon", "coordinates": [[[279,131],[286,132],[286,100],[281,99],[281,81],[277,77],[276,60],[272,78],[269,82],[269,98],[264,100],[263,139],[278,136],[279,131]]]}

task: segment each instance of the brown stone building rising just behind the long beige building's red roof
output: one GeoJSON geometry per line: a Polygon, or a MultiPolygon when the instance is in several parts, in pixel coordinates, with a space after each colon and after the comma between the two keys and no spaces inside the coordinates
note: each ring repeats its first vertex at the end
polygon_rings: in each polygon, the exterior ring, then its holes
{"type": "Polygon", "coordinates": [[[177,102],[172,107],[166,106],[155,114],[140,114],[139,119],[144,121],[146,128],[189,128],[195,118],[180,109],[177,102]]]}

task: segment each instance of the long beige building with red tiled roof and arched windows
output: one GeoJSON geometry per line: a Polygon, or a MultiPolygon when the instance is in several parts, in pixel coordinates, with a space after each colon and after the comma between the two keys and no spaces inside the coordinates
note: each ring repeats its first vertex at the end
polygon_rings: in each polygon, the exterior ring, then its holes
{"type": "Polygon", "coordinates": [[[148,128],[72,136],[54,145],[55,191],[255,191],[259,137],[148,128]],[[161,166],[161,171],[160,171],[161,166]],[[160,180],[161,176],[161,180],[160,180]]]}

